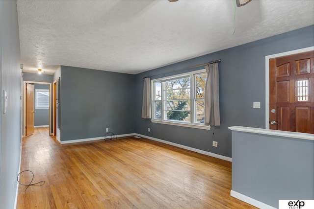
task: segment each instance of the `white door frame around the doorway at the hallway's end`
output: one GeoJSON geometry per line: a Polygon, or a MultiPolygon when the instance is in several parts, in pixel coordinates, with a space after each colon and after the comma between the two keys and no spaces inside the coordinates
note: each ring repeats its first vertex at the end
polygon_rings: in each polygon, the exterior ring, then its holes
{"type": "Polygon", "coordinates": [[[51,102],[52,102],[52,88],[51,88],[51,83],[48,82],[37,82],[37,81],[23,81],[23,137],[26,137],[26,83],[29,84],[44,84],[44,85],[49,85],[49,135],[52,135],[52,124],[51,124],[51,118],[52,118],[52,113],[51,113],[51,102]]]}

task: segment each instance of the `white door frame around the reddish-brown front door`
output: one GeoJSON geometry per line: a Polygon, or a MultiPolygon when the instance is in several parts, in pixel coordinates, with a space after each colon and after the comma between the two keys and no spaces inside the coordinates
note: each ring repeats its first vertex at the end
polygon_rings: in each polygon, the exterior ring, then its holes
{"type": "Polygon", "coordinates": [[[269,129],[269,60],[272,58],[283,57],[312,50],[314,50],[314,46],[265,56],[265,129],[269,129]]]}

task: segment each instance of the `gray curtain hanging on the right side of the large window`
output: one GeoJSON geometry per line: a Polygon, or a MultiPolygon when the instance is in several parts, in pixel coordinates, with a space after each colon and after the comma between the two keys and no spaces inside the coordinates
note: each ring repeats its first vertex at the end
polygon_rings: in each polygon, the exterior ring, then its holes
{"type": "Polygon", "coordinates": [[[205,125],[220,126],[218,63],[205,66],[205,125]]]}

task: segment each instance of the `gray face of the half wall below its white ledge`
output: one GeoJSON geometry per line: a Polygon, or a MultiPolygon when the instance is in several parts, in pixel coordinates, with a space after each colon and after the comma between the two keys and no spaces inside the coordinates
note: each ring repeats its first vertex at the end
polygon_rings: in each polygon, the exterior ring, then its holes
{"type": "Polygon", "coordinates": [[[314,141],[232,132],[232,190],[278,208],[314,199],[314,141]]]}

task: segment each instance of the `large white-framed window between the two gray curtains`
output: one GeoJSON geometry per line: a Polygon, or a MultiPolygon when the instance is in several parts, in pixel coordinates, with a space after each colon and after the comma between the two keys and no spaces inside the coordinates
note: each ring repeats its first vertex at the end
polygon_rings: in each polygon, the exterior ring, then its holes
{"type": "Polygon", "coordinates": [[[152,80],[152,121],[204,126],[205,70],[152,80]]]}

